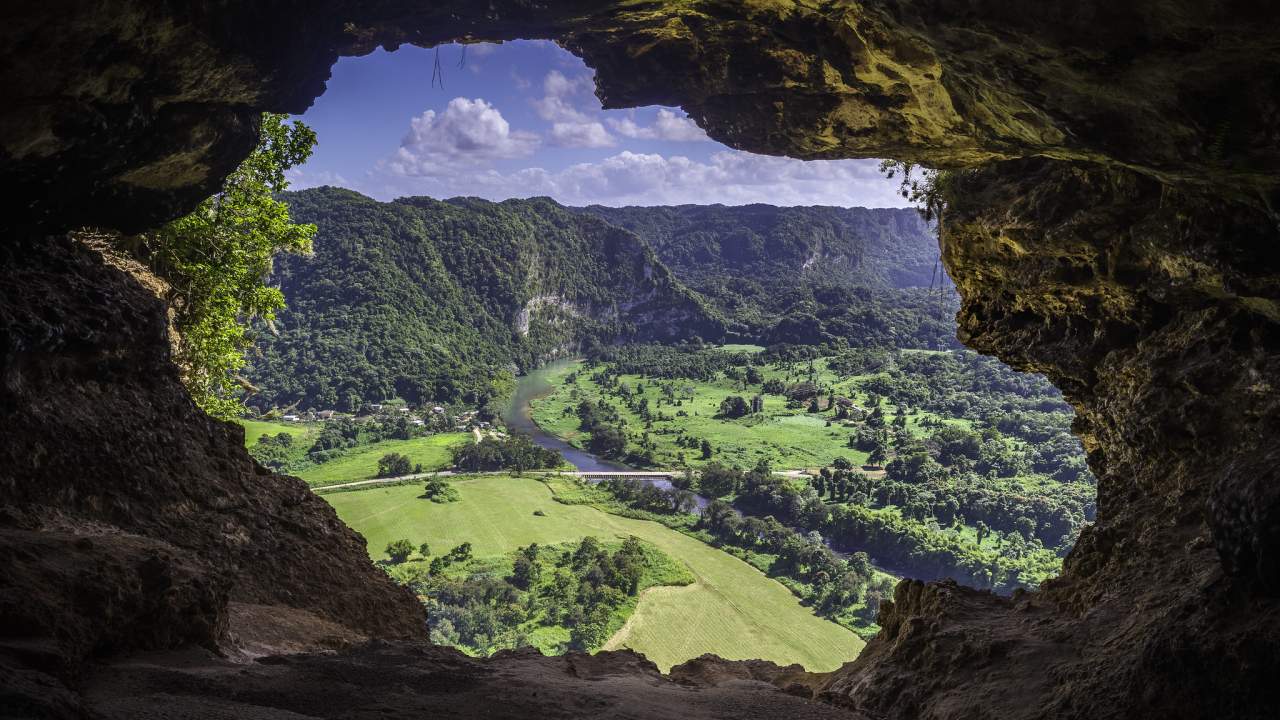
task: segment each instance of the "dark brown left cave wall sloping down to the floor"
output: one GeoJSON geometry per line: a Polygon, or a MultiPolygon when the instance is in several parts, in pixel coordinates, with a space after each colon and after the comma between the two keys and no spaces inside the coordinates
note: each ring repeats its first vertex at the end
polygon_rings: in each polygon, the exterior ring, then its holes
{"type": "Polygon", "coordinates": [[[308,642],[232,603],[426,637],[364,539],[191,401],[150,290],[69,238],[0,252],[0,664],[70,679],[104,653],[308,642]]]}

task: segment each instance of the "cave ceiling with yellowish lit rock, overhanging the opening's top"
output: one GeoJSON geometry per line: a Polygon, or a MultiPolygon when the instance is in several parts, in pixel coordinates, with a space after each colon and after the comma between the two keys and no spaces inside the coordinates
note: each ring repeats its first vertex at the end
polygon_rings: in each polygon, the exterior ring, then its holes
{"type": "Polygon", "coordinates": [[[152,225],[216,187],[261,110],[306,109],[339,55],[453,40],[558,40],[607,106],[681,105],[758,152],[1043,155],[1243,195],[1280,165],[1266,3],[110,0],[0,20],[12,227],[152,225]]]}

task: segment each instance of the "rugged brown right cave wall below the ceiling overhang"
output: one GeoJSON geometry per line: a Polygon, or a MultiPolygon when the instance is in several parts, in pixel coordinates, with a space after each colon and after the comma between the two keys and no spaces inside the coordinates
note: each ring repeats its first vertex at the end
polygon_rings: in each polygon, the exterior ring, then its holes
{"type": "Polygon", "coordinates": [[[902,583],[824,697],[878,717],[1274,716],[1274,218],[1044,160],[951,182],[961,340],[1075,405],[1098,519],[1039,593],[902,583]]]}

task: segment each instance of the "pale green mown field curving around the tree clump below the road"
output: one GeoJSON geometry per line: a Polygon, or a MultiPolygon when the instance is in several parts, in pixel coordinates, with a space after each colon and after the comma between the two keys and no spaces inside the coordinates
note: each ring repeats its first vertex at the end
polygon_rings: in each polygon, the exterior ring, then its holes
{"type": "Polygon", "coordinates": [[[545,484],[531,478],[486,475],[453,486],[461,500],[444,505],[421,500],[416,484],[334,493],[325,500],[364,533],[375,559],[384,557],[387,543],[399,538],[439,548],[470,542],[477,557],[586,536],[602,541],[636,536],[655,544],[685,562],[696,582],[644,593],[631,620],[607,647],[643,652],[663,670],[713,652],[827,671],[852,660],[863,647],[851,632],[817,618],[759,570],[658,523],[561,505],[545,484]],[[535,510],[544,516],[534,515],[535,510]]]}

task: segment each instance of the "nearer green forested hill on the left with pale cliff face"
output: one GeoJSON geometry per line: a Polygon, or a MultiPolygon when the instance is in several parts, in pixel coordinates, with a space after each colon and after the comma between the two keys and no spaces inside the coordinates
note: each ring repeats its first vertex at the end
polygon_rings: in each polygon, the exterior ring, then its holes
{"type": "Polygon", "coordinates": [[[276,260],[288,307],[246,368],[253,405],[483,402],[513,365],[588,338],[723,334],[632,233],[548,199],[379,202],[333,187],[284,199],[319,233],[312,256],[276,260]]]}

